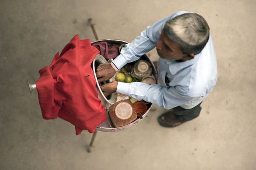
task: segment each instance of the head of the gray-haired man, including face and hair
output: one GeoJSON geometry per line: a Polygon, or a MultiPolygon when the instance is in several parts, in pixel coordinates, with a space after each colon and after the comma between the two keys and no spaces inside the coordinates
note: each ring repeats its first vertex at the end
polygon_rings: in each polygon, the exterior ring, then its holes
{"type": "Polygon", "coordinates": [[[165,23],[156,50],[167,60],[191,60],[203,50],[209,34],[209,26],[202,16],[182,14],[165,23]]]}

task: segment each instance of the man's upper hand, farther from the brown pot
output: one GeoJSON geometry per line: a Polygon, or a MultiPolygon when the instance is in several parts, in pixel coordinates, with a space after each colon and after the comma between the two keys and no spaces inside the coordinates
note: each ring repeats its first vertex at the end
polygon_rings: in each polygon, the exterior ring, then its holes
{"type": "Polygon", "coordinates": [[[116,71],[110,63],[101,64],[96,70],[96,76],[99,83],[109,80],[115,73],[116,71]]]}

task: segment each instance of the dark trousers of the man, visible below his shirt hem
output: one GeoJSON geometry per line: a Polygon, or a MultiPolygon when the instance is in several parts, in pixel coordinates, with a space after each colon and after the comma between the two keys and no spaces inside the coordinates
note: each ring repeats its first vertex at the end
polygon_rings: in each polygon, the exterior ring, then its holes
{"type": "Polygon", "coordinates": [[[194,106],[192,109],[184,109],[180,106],[174,107],[173,112],[175,116],[181,120],[188,121],[199,116],[202,107],[200,106],[202,102],[194,106]]]}

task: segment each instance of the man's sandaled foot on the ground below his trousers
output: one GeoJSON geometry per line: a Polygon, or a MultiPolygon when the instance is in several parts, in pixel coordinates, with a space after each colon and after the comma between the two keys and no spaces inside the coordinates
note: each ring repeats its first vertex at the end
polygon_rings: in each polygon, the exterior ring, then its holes
{"type": "Polygon", "coordinates": [[[177,118],[173,111],[168,111],[162,114],[157,120],[159,124],[164,127],[175,127],[185,122],[184,120],[177,118]]]}

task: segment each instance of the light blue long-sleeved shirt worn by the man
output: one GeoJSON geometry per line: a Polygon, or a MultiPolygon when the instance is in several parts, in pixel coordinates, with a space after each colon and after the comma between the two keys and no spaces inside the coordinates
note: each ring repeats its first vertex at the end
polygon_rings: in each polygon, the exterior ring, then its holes
{"type": "MultiPolygon", "coordinates": [[[[138,60],[156,46],[165,22],[184,13],[188,12],[177,12],[148,26],[125,46],[124,52],[113,63],[121,69],[127,63],[138,60]]],[[[204,49],[192,60],[176,62],[159,58],[157,72],[160,85],[118,82],[117,92],[166,109],[176,106],[191,109],[202,102],[217,81],[216,55],[211,35],[204,49]],[[170,82],[168,85],[165,84],[166,77],[170,82]]]]}

